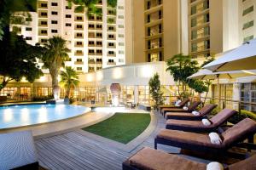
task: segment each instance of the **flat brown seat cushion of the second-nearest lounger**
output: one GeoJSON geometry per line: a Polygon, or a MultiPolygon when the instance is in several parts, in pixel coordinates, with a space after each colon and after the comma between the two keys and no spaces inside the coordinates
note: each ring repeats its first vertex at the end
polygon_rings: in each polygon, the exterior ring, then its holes
{"type": "Polygon", "coordinates": [[[157,138],[172,140],[180,143],[203,145],[212,148],[221,148],[222,144],[212,144],[208,134],[189,133],[178,130],[162,129],[157,138]]]}

